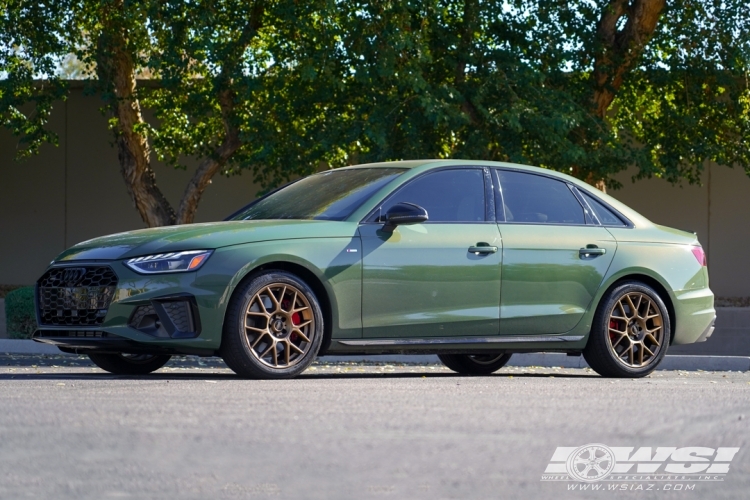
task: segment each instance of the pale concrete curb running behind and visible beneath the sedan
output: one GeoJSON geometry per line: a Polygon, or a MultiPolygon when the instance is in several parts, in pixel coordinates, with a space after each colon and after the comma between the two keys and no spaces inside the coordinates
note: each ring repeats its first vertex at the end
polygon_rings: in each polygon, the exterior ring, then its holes
{"type": "MultiPolygon", "coordinates": [[[[65,355],[57,347],[33,340],[0,339],[0,354],[65,355]]],[[[384,355],[384,356],[323,356],[324,363],[415,363],[435,364],[440,360],[435,355],[384,355]]],[[[540,366],[560,368],[587,368],[583,356],[568,356],[560,353],[514,354],[508,366],[540,366]]],[[[660,370],[687,371],[750,371],[750,356],[683,356],[668,355],[659,365],[660,370]]]]}

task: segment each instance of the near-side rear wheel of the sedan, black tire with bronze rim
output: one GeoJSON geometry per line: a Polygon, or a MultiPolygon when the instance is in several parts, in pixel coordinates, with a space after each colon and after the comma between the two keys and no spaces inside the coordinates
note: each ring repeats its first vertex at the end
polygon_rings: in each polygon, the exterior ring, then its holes
{"type": "MultiPolygon", "coordinates": [[[[648,317],[649,313],[646,312],[645,316],[648,317]]],[[[661,360],[664,359],[671,338],[672,324],[669,319],[669,312],[659,294],[644,283],[626,281],[618,284],[602,297],[594,315],[594,322],[591,327],[588,343],[583,350],[583,357],[589,366],[603,377],[645,377],[653,372],[661,360]],[[641,302],[635,304],[633,301],[633,304],[637,307],[633,311],[628,312],[630,308],[627,307],[627,303],[624,308],[618,305],[620,300],[625,300],[626,295],[631,297],[631,301],[633,296],[646,296],[651,300],[651,303],[641,305],[641,302]],[[656,314],[658,311],[660,327],[657,328],[659,326],[656,323],[657,318],[652,318],[646,320],[642,324],[643,328],[640,328],[638,323],[643,321],[643,313],[641,311],[644,308],[651,308],[652,306],[653,309],[649,310],[653,314],[656,314]],[[615,307],[618,309],[615,310],[615,307]],[[632,325],[631,321],[626,321],[628,315],[631,313],[635,314],[632,325]],[[622,324],[620,324],[620,319],[616,316],[623,316],[622,324]],[[650,336],[648,333],[644,334],[644,332],[649,332],[652,329],[657,331],[650,334],[650,336]],[[661,333],[658,332],[658,329],[661,329],[661,333]],[[620,330],[624,334],[618,334],[620,330]],[[658,346],[655,345],[654,341],[658,341],[658,346]],[[627,347],[623,347],[623,343],[627,347]],[[628,349],[630,349],[629,352],[628,349]],[[618,352],[618,350],[622,352],[618,352]],[[657,352],[653,352],[654,350],[657,352]],[[648,353],[652,353],[653,355],[649,355],[648,353]],[[638,356],[642,356],[640,358],[642,366],[633,366],[638,363],[638,356]],[[648,361],[644,362],[643,357],[647,356],[648,361]],[[631,357],[633,363],[630,363],[631,357]]]]}

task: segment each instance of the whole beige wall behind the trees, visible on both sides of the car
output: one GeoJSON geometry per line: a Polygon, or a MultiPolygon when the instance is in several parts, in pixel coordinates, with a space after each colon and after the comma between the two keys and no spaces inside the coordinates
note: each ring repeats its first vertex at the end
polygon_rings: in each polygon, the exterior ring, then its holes
{"type": "MultiPolygon", "coordinates": [[[[50,127],[60,146],[13,161],[17,138],[0,128],[0,284],[31,284],[60,251],[95,236],[144,227],[120,176],[117,152],[100,101],[74,90],[50,127]]],[[[176,206],[191,171],[155,163],[157,182],[176,206]]],[[[652,221],[696,231],[708,252],[711,288],[750,296],[750,178],[712,165],[703,186],[660,179],[630,182],[610,194],[652,221]]],[[[220,220],[253,199],[251,175],[217,177],[203,195],[197,222],[220,220]]]]}

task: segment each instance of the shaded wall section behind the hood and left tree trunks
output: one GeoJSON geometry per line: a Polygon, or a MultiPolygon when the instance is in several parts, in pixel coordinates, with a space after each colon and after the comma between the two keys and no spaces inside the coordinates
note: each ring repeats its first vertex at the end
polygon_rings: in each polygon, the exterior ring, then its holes
{"type": "MultiPolygon", "coordinates": [[[[13,160],[18,138],[0,127],[0,284],[32,284],[65,248],[145,227],[128,196],[98,98],[73,90],[52,114],[60,145],[13,160]]],[[[177,206],[192,171],[154,163],[159,187],[177,206]]],[[[216,176],[196,222],[221,220],[258,192],[250,173],[216,176]]]]}

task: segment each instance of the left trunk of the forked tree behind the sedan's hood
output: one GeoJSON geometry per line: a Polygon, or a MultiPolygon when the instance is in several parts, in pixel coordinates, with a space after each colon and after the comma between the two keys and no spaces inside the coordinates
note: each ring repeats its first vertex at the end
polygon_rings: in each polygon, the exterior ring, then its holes
{"type": "Polygon", "coordinates": [[[141,219],[149,227],[175,223],[175,213],[156,185],[151,168],[151,148],[143,130],[145,122],[135,95],[135,65],[127,48],[127,31],[121,25],[122,1],[103,12],[104,28],[97,40],[97,76],[105,86],[110,111],[117,120],[115,140],[120,172],[141,219]]]}

